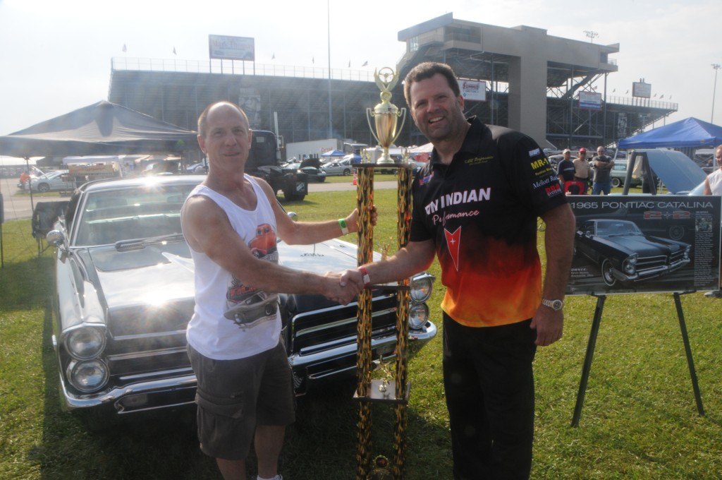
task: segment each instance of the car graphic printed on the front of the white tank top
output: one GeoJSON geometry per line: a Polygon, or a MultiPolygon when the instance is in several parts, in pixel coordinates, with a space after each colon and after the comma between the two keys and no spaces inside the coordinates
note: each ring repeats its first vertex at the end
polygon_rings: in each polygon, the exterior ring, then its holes
{"type": "MultiPolygon", "coordinates": [[[[276,232],[268,223],[256,227],[256,236],[248,242],[248,248],[254,257],[260,260],[278,262],[276,232]]],[[[226,312],[224,316],[233,320],[240,328],[250,328],[260,322],[276,319],[278,295],[243,285],[238,278],[232,277],[226,292],[226,312]]]]}

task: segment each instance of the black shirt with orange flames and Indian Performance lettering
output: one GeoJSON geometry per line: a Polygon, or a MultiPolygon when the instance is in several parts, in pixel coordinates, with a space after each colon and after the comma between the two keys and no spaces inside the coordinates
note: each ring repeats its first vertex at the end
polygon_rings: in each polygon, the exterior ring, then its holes
{"type": "Polygon", "coordinates": [[[462,325],[507,325],[534,316],[541,298],[537,217],[566,202],[531,137],[469,119],[451,164],[414,179],[411,241],[432,239],[447,287],[441,307],[462,325]]]}

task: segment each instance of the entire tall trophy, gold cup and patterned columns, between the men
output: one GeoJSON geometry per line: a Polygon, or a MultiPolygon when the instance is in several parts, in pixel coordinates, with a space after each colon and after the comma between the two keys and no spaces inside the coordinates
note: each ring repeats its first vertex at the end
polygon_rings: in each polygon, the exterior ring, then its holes
{"type": "MultiPolygon", "coordinates": [[[[366,151],[362,162],[357,163],[357,207],[359,216],[358,227],[358,265],[365,265],[373,261],[373,226],[371,225],[371,208],[373,207],[373,172],[376,168],[391,163],[398,168],[399,204],[397,211],[397,236],[399,248],[405,247],[409,242],[412,215],[412,166],[409,162],[409,153],[404,153],[400,163],[395,163],[388,155],[388,147],[399,137],[396,121],[399,116],[406,116],[406,109],[399,111],[393,106],[389,90],[396,85],[399,77],[391,68],[385,67],[375,72],[376,84],[381,89],[381,103],[366,110],[366,117],[371,127],[371,116],[375,119],[376,132],[374,137],[383,147],[383,157],[377,163],[372,163],[366,151]],[[383,77],[383,81],[381,80],[383,77]],[[391,80],[388,80],[388,79],[391,80]]],[[[401,122],[401,127],[404,122],[401,122]]],[[[373,132],[373,127],[371,127],[373,132]]],[[[384,255],[385,256],[385,255],[384,255]]],[[[358,342],[357,342],[357,384],[354,395],[359,401],[358,432],[356,443],[356,480],[403,480],[406,464],[406,407],[409,403],[409,382],[407,380],[406,364],[408,361],[409,340],[409,279],[399,281],[396,286],[370,286],[359,293],[358,296],[358,342]],[[396,369],[395,378],[389,379],[387,375],[381,380],[371,377],[371,356],[373,333],[371,319],[373,317],[372,289],[394,291],[396,293],[396,369]],[[371,403],[383,403],[393,406],[394,433],[393,433],[393,461],[383,455],[372,457],[371,442],[371,403]],[[373,460],[372,460],[373,458],[373,460]]],[[[383,357],[379,365],[383,369],[383,357]]],[[[390,373],[390,372],[388,372],[390,373]]]]}

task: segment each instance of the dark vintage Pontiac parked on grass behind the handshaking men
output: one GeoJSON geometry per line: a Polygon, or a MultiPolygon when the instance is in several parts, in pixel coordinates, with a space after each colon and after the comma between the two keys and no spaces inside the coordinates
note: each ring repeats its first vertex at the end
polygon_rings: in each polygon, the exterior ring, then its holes
{"type": "MultiPolygon", "coordinates": [[[[180,210],[203,179],[155,176],[84,184],[48,233],[57,247],[53,346],[61,403],[86,412],[92,427],[193,404],[196,378],[186,353],[193,262],[180,210]]],[[[259,241],[254,248],[264,245],[259,241]]],[[[278,239],[277,250],[280,264],[317,273],[357,262],[356,246],[340,240],[292,246],[278,239]]],[[[428,273],[410,280],[412,340],[436,335],[425,303],[434,280],[428,273]]],[[[298,395],[317,382],[355,375],[355,302],[342,306],[323,296],[279,294],[277,307],[298,395]]],[[[393,355],[396,309],[395,293],[374,291],[375,359],[393,355]]]]}

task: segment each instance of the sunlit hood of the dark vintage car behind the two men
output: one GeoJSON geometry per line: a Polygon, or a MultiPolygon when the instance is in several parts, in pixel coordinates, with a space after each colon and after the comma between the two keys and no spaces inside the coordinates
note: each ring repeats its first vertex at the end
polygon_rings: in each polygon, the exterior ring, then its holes
{"type": "MultiPolygon", "coordinates": [[[[355,268],[356,251],[354,244],[341,240],[311,245],[278,241],[279,264],[320,275],[355,268]]],[[[92,264],[86,267],[95,272],[110,309],[193,298],[193,260],[183,241],[129,252],[96,247],[82,257],[92,264]]],[[[374,254],[374,260],[380,260],[380,254],[374,254]]]]}

